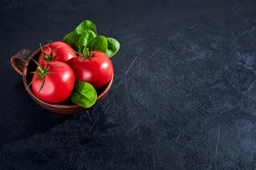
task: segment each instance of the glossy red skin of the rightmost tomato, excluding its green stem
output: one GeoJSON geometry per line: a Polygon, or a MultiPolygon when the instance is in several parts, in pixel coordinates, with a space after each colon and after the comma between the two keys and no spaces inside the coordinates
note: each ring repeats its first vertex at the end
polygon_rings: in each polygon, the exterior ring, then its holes
{"type": "MultiPolygon", "coordinates": [[[[83,53],[86,55],[86,53],[83,53]]],[[[104,52],[92,51],[90,59],[75,58],[70,65],[75,72],[75,81],[86,81],[95,89],[100,89],[110,81],[113,65],[104,52]]]]}

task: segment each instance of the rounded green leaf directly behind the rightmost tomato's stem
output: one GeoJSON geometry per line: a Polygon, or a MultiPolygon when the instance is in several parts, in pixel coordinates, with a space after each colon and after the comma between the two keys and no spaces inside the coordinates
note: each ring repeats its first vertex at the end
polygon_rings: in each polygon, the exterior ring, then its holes
{"type": "MultiPolygon", "coordinates": [[[[85,48],[89,48],[92,51],[101,51],[105,53],[107,52],[107,38],[102,35],[92,38],[92,40],[85,45],[85,48]]],[[[85,52],[85,48],[83,52],[85,52]]]]}

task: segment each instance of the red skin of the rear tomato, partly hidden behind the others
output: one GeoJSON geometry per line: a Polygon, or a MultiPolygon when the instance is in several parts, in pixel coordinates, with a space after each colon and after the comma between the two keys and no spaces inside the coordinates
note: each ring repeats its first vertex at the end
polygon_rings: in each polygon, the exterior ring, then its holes
{"type": "MultiPolygon", "coordinates": [[[[43,51],[46,52],[46,55],[50,55],[50,53],[51,55],[54,55],[53,61],[65,62],[68,65],[70,65],[71,62],[73,62],[73,60],[77,57],[77,55],[75,54],[75,52],[73,52],[72,47],[70,45],[60,41],[50,43],[49,45],[43,48],[43,51]],[[53,50],[56,47],[59,47],[59,48],[53,52],[53,50]]],[[[43,55],[43,52],[41,52],[39,57],[45,58],[45,55],[43,55]]],[[[44,62],[43,60],[38,58],[38,63],[43,64],[44,62]]]]}

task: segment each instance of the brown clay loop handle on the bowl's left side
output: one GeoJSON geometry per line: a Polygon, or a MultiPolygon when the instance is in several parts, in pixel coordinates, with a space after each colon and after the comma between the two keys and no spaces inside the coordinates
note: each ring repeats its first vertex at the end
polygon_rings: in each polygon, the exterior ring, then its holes
{"type": "Polygon", "coordinates": [[[14,67],[16,72],[18,72],[18,74],[21,74],[21,76],[23,75],[23,69],[26,64],[26,60],[28,60],[32,53],[33,52],[31,52],[31,50],[21,49],[17,52],[16,55],[11,57],[12,67],[14,67]]]}

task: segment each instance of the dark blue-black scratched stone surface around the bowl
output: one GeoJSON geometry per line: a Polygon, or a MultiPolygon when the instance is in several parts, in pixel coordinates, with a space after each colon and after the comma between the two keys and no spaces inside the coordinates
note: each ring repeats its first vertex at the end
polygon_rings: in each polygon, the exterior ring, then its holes
{"type": "Polygon", "coordinates": [[[0,169],[256,169],[256,1],[0,4],[0,169]],[[10,64],[84,20],[116,38],[110,94],[58,115],[10,64]]]}

